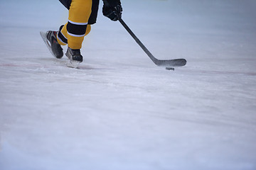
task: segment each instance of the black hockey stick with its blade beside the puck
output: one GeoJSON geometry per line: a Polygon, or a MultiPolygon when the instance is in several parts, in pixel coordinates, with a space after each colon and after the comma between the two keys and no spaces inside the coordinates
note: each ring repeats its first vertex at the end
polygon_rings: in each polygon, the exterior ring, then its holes
{"type": "Polygon", "coordinates": [[[122,18],[118,18],[119,22],[124,26],[124,28],[127,30],[127,32],[134,38],[134,40],[137,42],[137,44],[142,47],[142,50],[146,52],[146,55],[149,56],[149,58],[156,64],[157,66],[163,66],[163,67],[177,67],[177,66],[184,66],[186,65],[185,59],[173,59],[173,60],[158,60],[154,55],[147,50],[145,45],[142,44],[142,42],[137,38],[137,36],[132,32],[132,30],[127,26],[126,23],[122,20],[122,18]]]}

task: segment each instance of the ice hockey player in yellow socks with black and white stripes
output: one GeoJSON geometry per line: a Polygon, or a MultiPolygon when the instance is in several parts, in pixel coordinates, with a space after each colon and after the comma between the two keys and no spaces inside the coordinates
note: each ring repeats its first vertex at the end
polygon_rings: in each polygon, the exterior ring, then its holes
{"type": "MultiPolygon", "coordinates": [[[[48,30],[46,38],[50,42],[53,55],[63,57],[61,45],[68,45],[65,55],[70,62],[82,62],[80,49],[85,35],[90,33],[90,25],[96,23],[100,0],[60,0],[68,8],[68,23],[60,26],[58,31],[48,30]]],[[[122,15],[120,0],[103,0],[102,13],[112,21],[122,15]]]]}

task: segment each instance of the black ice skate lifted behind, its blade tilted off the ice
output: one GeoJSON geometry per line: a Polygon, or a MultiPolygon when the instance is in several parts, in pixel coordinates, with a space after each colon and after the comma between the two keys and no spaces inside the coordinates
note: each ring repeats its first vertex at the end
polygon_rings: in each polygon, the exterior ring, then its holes
{"type": "Polygon", "coordinates": [[[48,30],[46,33],[40,32],[43,41],[46,42],[46,45],[52,55],[58,59],[63,57],[63,48],[57,41],[57,31],[48,30]]]}

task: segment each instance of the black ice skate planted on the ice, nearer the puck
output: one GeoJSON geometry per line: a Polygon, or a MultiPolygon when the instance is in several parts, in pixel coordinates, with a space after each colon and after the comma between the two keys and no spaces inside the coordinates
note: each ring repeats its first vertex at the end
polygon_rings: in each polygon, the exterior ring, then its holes
{"type": "Polygon", "coordinates": [[[73,50],[70,47],[68,47],[68,50],[65,53],[65,55],[68,57],[67,66],[78,68],[80,62],[82,62],[82,55],[80,53],[80,49],[73,50]]]}

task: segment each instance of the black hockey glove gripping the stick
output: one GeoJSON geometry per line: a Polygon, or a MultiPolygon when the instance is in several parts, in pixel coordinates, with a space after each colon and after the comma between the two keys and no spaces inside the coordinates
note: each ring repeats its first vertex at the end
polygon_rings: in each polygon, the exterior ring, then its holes
{"type": "Polygon", "coordinates": [[[102,13],[112,21],[117,21],[122,17],[122,6],[119,0],[103,0],[102,13]]]}

